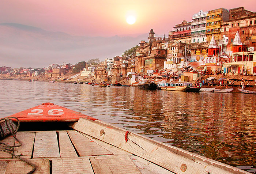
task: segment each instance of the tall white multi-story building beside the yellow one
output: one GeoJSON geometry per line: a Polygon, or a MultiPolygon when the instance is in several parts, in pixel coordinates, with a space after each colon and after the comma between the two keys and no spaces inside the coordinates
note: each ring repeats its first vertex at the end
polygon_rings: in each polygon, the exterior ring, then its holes
{"type": "Polygon", "coordinates": [[[208,11],[200,10],[192,16],[191,43],[206,42],[206,18],[208,11]]]}

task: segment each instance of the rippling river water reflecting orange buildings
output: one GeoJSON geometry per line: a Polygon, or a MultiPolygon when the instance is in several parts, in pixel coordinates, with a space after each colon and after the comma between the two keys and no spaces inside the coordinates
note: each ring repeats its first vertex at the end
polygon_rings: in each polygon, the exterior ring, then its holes
{"type": "Polygon", "coordinates": [[[154,140],[256,169],[256,95],[0,80],[0,118],[52,102],[154,140]]]}

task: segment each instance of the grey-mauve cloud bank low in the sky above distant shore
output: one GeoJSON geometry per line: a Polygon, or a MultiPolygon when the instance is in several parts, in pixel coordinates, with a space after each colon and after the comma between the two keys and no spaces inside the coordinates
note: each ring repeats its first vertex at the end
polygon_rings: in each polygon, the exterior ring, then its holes
{"type": "Polygon", "coordinates": [[[103,61],[121,56],[147,36],[79,37],[22,24],[3,23],[0,24],[0,66],[40,68],[53,63],[76,64],[92,58],[103,61]]]}

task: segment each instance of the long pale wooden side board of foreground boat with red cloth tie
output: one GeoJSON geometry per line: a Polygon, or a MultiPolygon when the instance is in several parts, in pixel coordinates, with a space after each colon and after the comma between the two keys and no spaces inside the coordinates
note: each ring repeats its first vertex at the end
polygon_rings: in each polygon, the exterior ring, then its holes
{"type": "Polygon", "coordinates": [[[80,118],[79,121],[72,124],[71,127],[77,131],[147,159],[173,173],[249,174],[236,167],[193,154],[180,148],[143,137],[136,133],[129,132],[128,142],[126,142],[126,130],[106,124],[99,120],[90,121],[80,118]],[[104,134],[101,132],[104,132],[104,134]]]}

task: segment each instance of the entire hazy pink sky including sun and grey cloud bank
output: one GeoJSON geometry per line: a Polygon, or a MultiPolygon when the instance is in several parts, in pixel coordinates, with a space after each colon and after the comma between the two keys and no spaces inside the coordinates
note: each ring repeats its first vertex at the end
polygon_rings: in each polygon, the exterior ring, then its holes
{"type": "Polygon", "coordinates": [[[1,0],[0,66],[103,61],[147,41],[150,29],[156,36],[168,36],[175,24],[190,22],[200,10],[244,7],[255,12],[253,4],[255,0],[1,0]],[[36,27],[37,33],[16,24],[36,27]]]}

